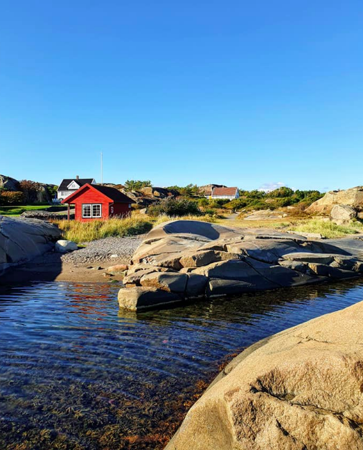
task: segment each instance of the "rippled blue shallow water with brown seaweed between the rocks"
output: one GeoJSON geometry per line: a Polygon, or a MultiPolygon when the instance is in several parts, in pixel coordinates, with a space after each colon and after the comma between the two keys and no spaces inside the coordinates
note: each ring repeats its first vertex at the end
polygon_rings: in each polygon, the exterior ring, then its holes
{"type": "Polygon", "coordinates": [[[0,449],[158,449],[227,355],[363,300],[363,282],[119,312],[118,288],[0,295],[0,449]]]}

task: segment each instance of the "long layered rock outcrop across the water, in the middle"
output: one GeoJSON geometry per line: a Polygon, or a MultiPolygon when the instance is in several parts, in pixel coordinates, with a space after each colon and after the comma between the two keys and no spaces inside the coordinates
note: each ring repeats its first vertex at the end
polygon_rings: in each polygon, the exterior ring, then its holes
{"type": "Polygon", "coordinates": [[[363,258],[355,258],[362,250],[363,242],[351,238],[331,244],[261,228],[166,222],[136,249],[123,280],[128,289],[120,290],[118,301],[139,310],[186,298],[352,278],[363,273],[363,258]],[[158,292],[161,297],[155,300],[158,292]]]}

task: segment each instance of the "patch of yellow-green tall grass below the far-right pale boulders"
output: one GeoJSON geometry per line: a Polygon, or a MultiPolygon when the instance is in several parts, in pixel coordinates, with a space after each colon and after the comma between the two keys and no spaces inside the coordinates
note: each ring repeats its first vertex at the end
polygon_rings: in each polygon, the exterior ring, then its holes
{"type": "Polygon", "coordinates": [[[296,226],[291,226],[290,230],[299,233],[320,233],[324,237],[343,237],[355,233],[363,233],[361,222],[351,222],[350,225],[337,225],[330,220],[310,219],[296,226]]]}

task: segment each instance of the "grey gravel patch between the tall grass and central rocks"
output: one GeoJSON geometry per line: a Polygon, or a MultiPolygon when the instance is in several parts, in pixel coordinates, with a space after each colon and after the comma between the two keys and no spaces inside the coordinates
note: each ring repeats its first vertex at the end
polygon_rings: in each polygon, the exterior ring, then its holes
{"type": "Polygon", "coordinates": [[[132,254],[143,241],[145,235],[130,237],[105,237],[92,242],[85,242],[86,247],[66,255],[63,262],[87,264],[98,261],[112,261],[115,264],[130,260],[132,254]]]}

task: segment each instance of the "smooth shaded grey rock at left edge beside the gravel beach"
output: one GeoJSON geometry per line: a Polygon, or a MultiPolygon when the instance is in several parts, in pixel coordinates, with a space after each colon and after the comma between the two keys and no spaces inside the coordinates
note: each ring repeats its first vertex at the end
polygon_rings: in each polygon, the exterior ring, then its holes
{"type": "Polygon", "coordinates": [[[0,273],[53,249],[60,236],[59,228],[43,220],[0,216],[0,273]]]}

